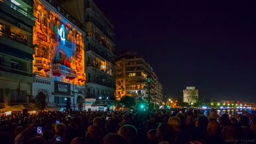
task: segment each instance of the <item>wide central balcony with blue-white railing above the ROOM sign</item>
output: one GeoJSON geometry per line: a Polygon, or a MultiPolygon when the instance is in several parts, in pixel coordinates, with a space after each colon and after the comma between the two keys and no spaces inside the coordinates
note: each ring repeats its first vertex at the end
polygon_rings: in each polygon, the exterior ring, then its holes
{"type": "Polygon", "coordinates": [[[67,79],[70,79],[70,80],[77,78],[75,69],[69,68],[60,63],[53,64],[53,75],[58,77],[61,75],[64,75],[66,76],[67,79]]]}

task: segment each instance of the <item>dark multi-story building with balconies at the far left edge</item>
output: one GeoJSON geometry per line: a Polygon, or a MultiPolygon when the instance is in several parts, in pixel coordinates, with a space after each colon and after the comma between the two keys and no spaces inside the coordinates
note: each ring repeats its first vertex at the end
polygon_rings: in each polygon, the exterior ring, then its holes
{"type": "Polygon", "coordinates": [[[32,0],[0,0],[0,108],[31,94],[35,19],[32,0]]]}

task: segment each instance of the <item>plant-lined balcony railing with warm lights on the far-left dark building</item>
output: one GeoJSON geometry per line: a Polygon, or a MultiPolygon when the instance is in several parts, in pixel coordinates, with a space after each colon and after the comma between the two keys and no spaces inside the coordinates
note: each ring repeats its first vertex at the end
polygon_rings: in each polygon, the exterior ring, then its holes
{"type": "Polygon", "coordinates": [[[15,33],[12,33],[12,32],[10,32],[8,30],[0,30],[0,36],[4,36],[7,39],[14,40],[15,42],[24,44],[25,46],[28,46],[28,47],[31,47],[31,48],[35,48],[34,44],[28,42],[26,39],[22,39],[21,36],[15,34],[15,33]]]}

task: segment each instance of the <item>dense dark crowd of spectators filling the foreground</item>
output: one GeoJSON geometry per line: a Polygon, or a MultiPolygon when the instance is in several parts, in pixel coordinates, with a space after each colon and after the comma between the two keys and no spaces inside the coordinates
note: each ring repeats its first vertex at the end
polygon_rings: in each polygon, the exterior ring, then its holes
{"type": "Polygon", "coordinates": [[[198,109],[39,112],[0,118],[0,144],[256,143],[256,117],[198,109]]]}

